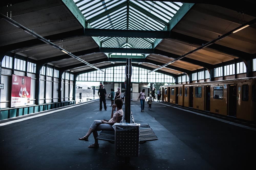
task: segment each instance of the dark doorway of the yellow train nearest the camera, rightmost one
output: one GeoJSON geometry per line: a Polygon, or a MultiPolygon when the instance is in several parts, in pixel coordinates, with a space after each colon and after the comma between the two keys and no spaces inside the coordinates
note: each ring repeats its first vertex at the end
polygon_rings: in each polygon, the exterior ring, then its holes
{"type": "Polygon", "coordinates": [[[228,116],[237,115],[237,85],[228,85],[228,116]]]}

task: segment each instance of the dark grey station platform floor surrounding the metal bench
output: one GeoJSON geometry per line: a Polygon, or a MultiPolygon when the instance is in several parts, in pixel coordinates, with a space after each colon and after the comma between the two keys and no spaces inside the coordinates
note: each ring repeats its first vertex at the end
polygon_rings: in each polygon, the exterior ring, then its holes
{"type": "MultiPolygon", "coordinates": [[[[65,106],[0,121],[1,169],[254,169],[256,127],[154,101],[141,112],[131,101],[135,123],[148,123],[158,140],[139,145],[139,156],[117,157],[114,144],[80,141],[95,119],[110,119],[111,107],[99,110],[99,100],[65,106]],[[253,168],[254,167],[254,168],[253,168]]],[[[124,110],[124,106],[123,106],[124,110]]]]}

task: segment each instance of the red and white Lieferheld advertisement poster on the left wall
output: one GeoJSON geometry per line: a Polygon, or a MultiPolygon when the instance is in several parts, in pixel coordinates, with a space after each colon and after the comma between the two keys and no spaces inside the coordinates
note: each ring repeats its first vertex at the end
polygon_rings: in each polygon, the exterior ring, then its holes
{"type": "Polygon", "coordinates": [[[14,75],[12,77],[11,107],[30,104],[31,77],[14,75]]]}

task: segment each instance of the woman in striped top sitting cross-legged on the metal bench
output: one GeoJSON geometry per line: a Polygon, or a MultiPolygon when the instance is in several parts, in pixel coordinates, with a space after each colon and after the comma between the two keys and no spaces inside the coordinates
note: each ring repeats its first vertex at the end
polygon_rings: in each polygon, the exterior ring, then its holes
{"type": "Polygon", "coordinates": [[[114,123],[120,123],[122,117],[123,117],[123,100],[121,98],[115,99],[115,104],[112,106],[112,112],[111,112],[111,119],[110,120],[94,120],[93,123],[91,124],[91,127],[89,128],[87,134],[79,138],[79,140],[83,141],[89,141],[88,138],[90,134],[93,134],[94,137],[94,144],[88,146],[88,148],[99,148],[99,143],[98,143],[98,132],[100,130],[108,130],[108,131],[114,131],[112,125],[114,123]],[[116,109],[115,113],[114,110],[116,109]]]}

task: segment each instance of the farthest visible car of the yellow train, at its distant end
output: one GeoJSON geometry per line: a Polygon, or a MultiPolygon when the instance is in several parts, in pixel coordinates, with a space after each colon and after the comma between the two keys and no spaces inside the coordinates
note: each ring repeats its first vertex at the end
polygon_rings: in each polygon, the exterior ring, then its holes
{"type": "Polygon", "coordinates": [[[161,86],[162,101],[184,106],[184,84],[161,86]]]}

